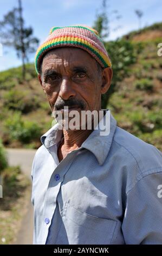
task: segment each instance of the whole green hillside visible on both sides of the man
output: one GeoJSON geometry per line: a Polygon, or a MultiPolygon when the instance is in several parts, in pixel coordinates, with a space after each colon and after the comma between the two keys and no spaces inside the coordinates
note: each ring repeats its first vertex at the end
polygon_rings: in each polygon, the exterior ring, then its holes
{"type": "MultiPolygon", "coordinates": [[[[126,77],[116,83],[109,98],[118,125],[162,150],[162,57],[157,45],[162,42],[162,23],[131,32],[127,40],[140,45],[135,62],[126,77]],[[140,42],[140,43],[139,43],[140,42]]],[[[28,64],[27,81],[21,68],[0,72],[0,137],[7,147],[37,148],[40,136],[51,127],[51,112],[37,81],[33,64],[28,64]]]]}

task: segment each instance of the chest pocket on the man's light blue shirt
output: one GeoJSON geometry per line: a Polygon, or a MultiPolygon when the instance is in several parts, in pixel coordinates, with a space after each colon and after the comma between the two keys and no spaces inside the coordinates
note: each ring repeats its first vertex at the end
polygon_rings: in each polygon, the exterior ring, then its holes
{"type": "Polygon", "coordinates": [[[109,245],[113,238],[116,221],[89,215],[67,206],[64,224],[69,244],[109,245]]]}

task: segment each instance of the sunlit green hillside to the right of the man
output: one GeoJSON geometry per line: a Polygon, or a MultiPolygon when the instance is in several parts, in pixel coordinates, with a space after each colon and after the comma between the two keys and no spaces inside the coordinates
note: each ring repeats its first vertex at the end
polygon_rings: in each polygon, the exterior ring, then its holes
{"type": "Polygon", "coordinates": [[[157,45],[162,42],[162,22],[124,36],[141,52],[129,76],[116,86],[109,108],[118,125],[162,151],[162,57],[157,45]]]}

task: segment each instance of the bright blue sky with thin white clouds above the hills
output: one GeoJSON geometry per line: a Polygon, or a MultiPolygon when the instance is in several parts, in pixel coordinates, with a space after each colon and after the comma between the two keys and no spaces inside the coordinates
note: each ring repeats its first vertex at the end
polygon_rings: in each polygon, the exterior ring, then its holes
{"type": "MultiPolygon", "coordinates": [[[[0,21],[13,7],[17,6],[17,0],[0,0],[0,21]]],[[[25,26],[34,29],[34,36],[40,39],[40,44],[54,26],[70,26],[76,24],[93,26],[96,14],[101,9],[102,0],[22,0],[23,17],[25,26]]],[[[143,12],[141,27],[162,21],[161,0],[108,0],[107,14],[111,28],[109,40],[115,40],[121,35],[138,29],[139,23],[136,9],[143,12]],[[120,20],[115,19],[113,10],[118,10],[120,20]],[[116,28],[118,28],[116,30],[116,28]]],[[[0,71],[21,65],[12,48],[3,46],[3,54],[0,39],[0,71]],[[1,56],[3,55],[3,56],[1,56]]],[[[34,54],[30,62],[34,61],[34,54]]]]}

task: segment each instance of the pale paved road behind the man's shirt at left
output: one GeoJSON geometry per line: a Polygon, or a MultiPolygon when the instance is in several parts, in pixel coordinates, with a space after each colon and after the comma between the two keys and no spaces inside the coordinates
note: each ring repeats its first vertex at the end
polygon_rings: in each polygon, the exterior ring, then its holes
{"type": "MultiPolygon", "coordinates": [[[[31,166],[35,152],[36,150],[33,149],[7,149],[9,164],[12,166],[20,165],[22,171],[31,179],[31,166]]],[[[33,243],[33,206],[30,199],[15,243],[17,245],[33,243]]]]}

